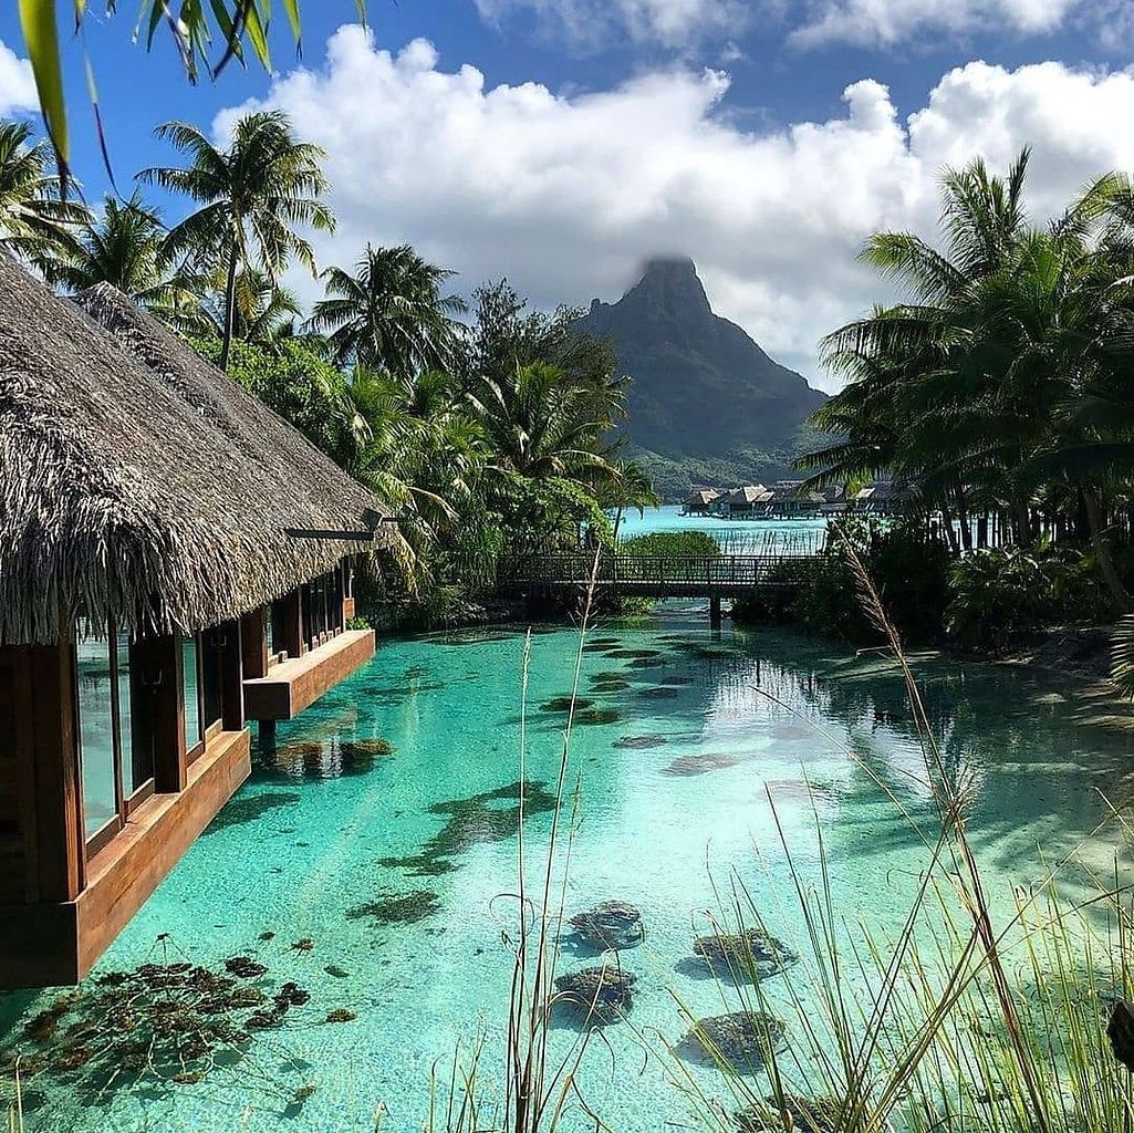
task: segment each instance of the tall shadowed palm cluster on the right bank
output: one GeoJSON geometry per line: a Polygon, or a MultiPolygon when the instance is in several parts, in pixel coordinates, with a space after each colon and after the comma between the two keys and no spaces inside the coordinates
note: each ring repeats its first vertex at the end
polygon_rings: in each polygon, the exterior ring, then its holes
{"type": "MultiPolygon", "coordinates": [[[[993,580],[1018,589],[1021,555],[1050,574],[1074,551],[1114,617],[1132,608],[1134,185],[1107,174],[1036,223],[1029,159],[1002,177],[982,160],[947,172],[937,244],[866,243],[863,261],[903,298],[823,341],[848,383],[814,415],[829,442],[799,463],[807,487],[894,477],[954,556],[1002,549],[955,572],[962,604],[993,580]]],[[[1073,589],[1083,603],[1056,616],[1098,616],[1073,589]]],[[[1021,624],[1034,615],[1021,606],[1021,624]]]]}

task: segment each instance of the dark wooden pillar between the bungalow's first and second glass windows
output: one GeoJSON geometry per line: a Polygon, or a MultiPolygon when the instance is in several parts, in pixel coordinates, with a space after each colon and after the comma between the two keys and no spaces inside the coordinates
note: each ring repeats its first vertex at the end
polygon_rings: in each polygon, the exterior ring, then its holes
{"type": "Polygon", "coordinates": [[[135,719],[134,741],[152,742],[153,789],[159,795],[179,794],[187,781],[181,648],[181,639],[171,634],[143,637],[130,646],[130,682],[146,691],[135,697],[135,704],[146,705],[146,719],[135,719]]]}

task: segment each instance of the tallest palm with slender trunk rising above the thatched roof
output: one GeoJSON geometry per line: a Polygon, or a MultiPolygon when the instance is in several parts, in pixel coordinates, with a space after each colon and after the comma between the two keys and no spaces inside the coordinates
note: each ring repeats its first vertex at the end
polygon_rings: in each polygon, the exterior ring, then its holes
{"type": "Polygon", "coordinates": [[[333,213],[319,200],[329,187],[320,168],[327,155],[297,142],[278,110],[239,118],[227,149],[215,147],[187,122],[164,122],[156,133],[186,154],[189,166],[144,169],[138,177],[201,204],[170,229],[166,247],[170,254],[188,254],[206,270],[223,265],[223,369],[236,328],[240,269],[259,269],[274,280],[297,260],[315,274],[312,246],[295,227],[335,229],[333,213]]]}

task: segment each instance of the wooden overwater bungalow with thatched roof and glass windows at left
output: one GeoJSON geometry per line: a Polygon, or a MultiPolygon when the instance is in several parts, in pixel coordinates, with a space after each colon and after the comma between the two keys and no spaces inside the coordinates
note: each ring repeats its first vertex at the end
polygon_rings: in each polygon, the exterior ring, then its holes
{"type": "MultiPolygon", "coordinates": [[[[0,256],[0,988],[75,983],[374,651],[381,508],[112,288],[0,256]]],[[[388,529],[387,529],[388,530],[388,529]]]]}

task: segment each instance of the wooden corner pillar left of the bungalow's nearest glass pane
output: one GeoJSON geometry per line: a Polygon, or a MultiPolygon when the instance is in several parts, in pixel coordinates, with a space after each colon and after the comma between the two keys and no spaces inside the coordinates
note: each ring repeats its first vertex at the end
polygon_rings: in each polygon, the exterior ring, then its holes
{"type": "Polygon", "coordinates": [[[75,651],[70,642],[61,642],[28,646],[25,656],[17,702],[27,697],[24,711],[31,722],[28,754],[35,793],[35,868],[28,888],[32,899],[68,902],[86,885],[75,651]]]}

